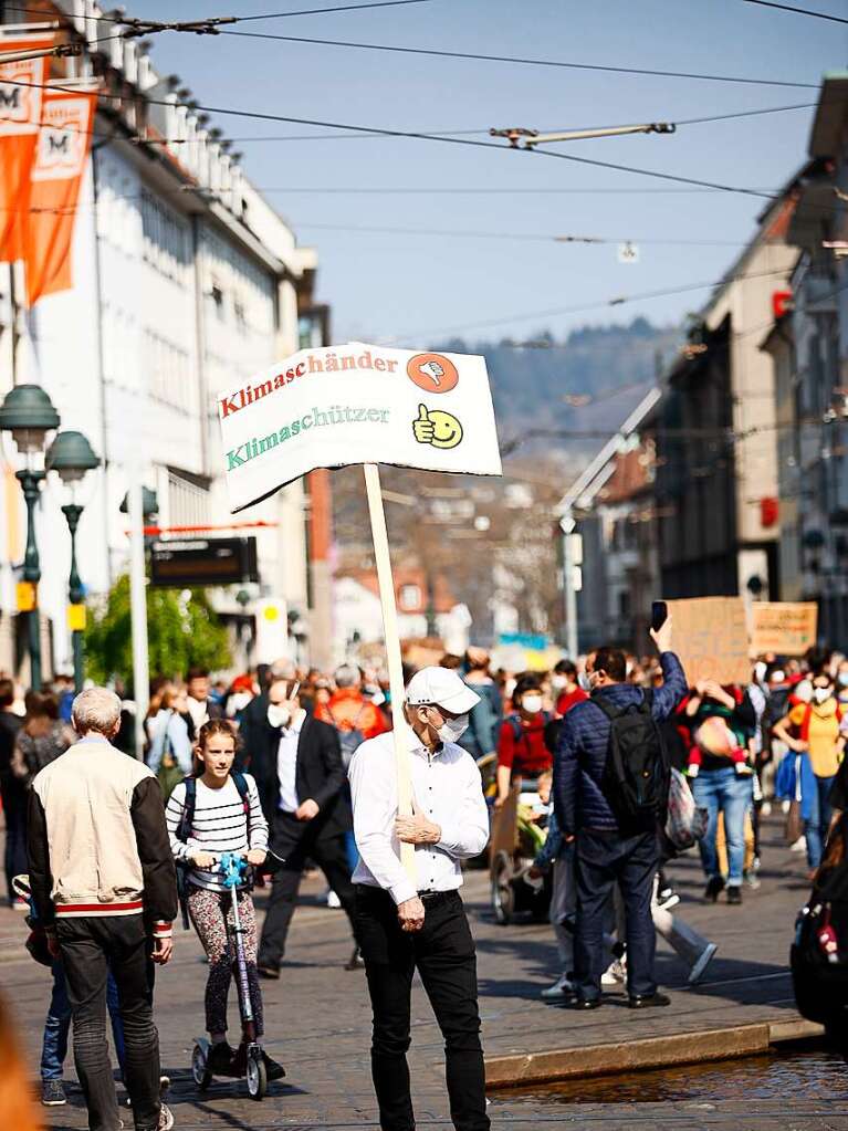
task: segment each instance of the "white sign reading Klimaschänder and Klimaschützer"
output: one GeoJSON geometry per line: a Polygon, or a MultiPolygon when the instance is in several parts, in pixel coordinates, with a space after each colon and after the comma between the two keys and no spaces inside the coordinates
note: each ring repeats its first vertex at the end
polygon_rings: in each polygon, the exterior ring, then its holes
{"type": "Polygon", "coordinates": [[[218,397],[232,511],[318,467],[500,475],[483,357],[358,342],[301,349],[218,397]]]}

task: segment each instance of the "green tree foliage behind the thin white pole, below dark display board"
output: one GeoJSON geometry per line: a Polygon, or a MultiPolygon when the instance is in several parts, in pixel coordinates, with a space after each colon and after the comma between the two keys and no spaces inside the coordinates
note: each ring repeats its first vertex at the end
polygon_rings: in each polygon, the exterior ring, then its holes
{"type": "MultiPolygon", "coordinates": [[[[89,616],[87,674],[98,683],[132,679],[130,579],[124,573],[105,605],[89,616]]],[[[147,647],[152,675],[184,675],[189,667],[217,670],[232,659],[226,629],[201,589],[147,590],[147,647]]]]}

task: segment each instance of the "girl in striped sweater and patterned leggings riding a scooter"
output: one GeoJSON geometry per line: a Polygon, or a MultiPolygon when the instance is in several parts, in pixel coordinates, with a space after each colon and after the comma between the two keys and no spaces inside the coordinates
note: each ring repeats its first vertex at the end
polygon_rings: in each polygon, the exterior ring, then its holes
{"type": "MultiPolygon", "coordinates": [[[[175,786],[165,810],[171,851],[184,872],[182,898],[209,959],[206,982],[207,1065],[216,1076],[239,1074],[236,1051],[227,1042],[227,996],[233,977],[231,932],[233,909],[224,877],[217,867],[223,853],[244,855],[261,867],[268,855],[268,822],[259,791],[249,774],[233,770],[237,736],[227,719],[209,719],[194,748],[202,770],[175,786]]],[[[239,889],[239,916],[244,927],[250,1001],[262,1035],[262,994],[257,973],[257,921],[246,883],[239,889]]],[[[279,1080],[283,1067],[262,1054],[269,1080],[279,1080]]]]}

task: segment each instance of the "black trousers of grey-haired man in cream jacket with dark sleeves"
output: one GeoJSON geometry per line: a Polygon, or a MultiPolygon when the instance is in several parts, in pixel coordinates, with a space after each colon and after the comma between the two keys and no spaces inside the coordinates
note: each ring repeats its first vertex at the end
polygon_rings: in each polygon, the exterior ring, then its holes
{"type": "Polygon", "coordinates": [[[141,915],[59,920],[57,936],[73,1019],[73,1061],[90,1131],[115,1131],[118,1097],[106,1043],[106,977],[118,986],[126,1044],[124,1083],[136,1131],[159,1120],[159,1036],[153,1024],[153,944],[141,915]]]}

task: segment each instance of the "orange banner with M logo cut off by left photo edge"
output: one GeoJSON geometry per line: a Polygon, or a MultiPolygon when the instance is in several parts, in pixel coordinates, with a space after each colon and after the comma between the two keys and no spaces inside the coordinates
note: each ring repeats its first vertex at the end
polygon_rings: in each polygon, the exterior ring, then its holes
{"type": "MultiPolygon", "coordinates": [[[[51,48],[52,36],[0,38],[0,52],[51,48]]],[[[46,59],[0,63],[0,262],[24,256],[29,174],[41,122],[46,59]]]]}

